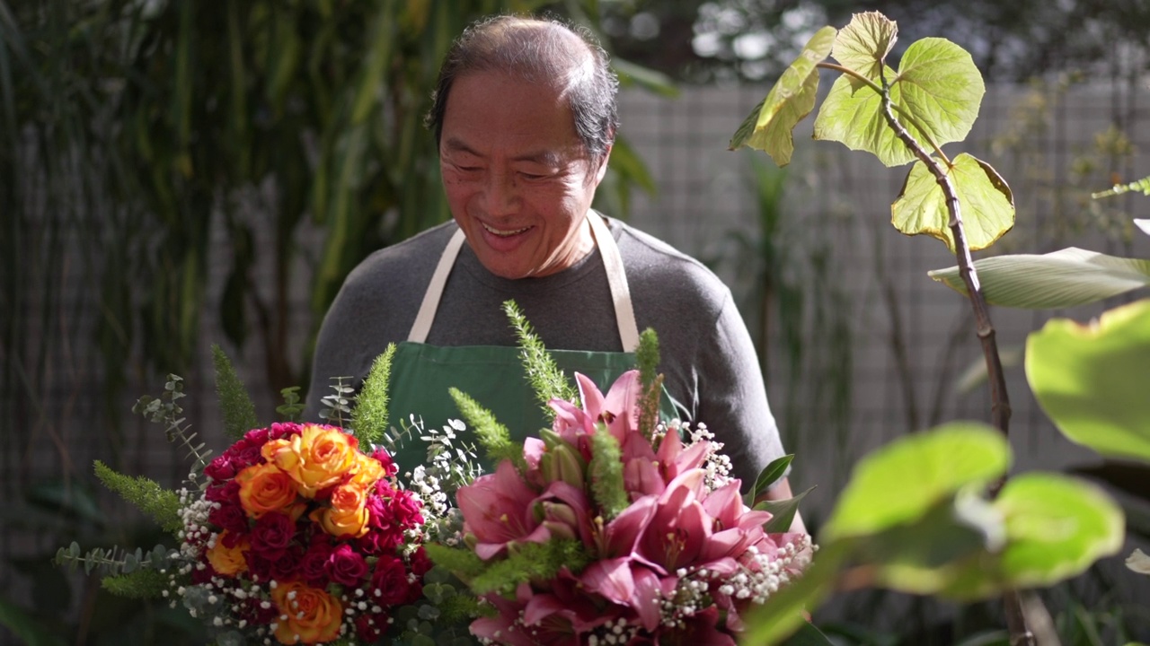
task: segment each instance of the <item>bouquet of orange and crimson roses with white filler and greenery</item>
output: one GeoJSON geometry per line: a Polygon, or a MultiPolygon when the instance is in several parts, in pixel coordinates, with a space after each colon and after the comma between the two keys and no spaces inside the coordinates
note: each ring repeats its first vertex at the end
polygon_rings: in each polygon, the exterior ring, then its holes
{"type": "MultiPolygon", "coordinates": [[[[379,397],[389,362],[390,352],[358,395],[337,382],[336,394],[323,399],[330,424],[259,425],[216,349],[225,431],[236,439],[215,456],[187,433],[183,380],[169,376],[160,398],[141,398],[133,410],[166,424],[169,439],[189,449],[195,468],[183,486],[166,490],[99,462],[95,470],[177,546],[82,554],[72,544],[57,563],[105,575],[114,593],[167,599],[199,618],[220,646],[409,643],[420,633],[474,643],[467,636],[474,598],[453,594],[450,575],[431,571],[424,552],[425,543],[458,533],[453,494],[478,472],[469,460],[474,447],[455,439],[459,422],[443,432],[389,426],[379,397]],[[386,447],[405,438],[429,449],[427,463],[401,482],[386,447]]],[[[294,417],[301,409],[294,390],[285,395],[279,412],[294,417]]]]}

